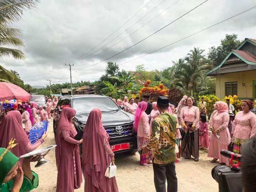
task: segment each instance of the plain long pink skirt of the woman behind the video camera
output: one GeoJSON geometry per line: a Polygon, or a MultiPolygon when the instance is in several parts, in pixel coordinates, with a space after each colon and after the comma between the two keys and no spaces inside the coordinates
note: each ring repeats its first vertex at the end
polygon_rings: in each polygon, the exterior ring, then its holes
{"type": "Polygon", "coordinates": [[[210,146],[208,150],[208,157],[219,159],[220,163],[225,163],[226,165],[229,165],[229,158],[226,158],[222,155],[220,155],[220,151],[222,149],[228,150],[228,145],[220,144],[216,141],[210,141],[210,146]]]}

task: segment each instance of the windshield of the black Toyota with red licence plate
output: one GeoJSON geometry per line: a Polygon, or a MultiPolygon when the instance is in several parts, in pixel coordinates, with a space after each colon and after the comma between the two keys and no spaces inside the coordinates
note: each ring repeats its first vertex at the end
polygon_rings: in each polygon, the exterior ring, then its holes
{"type": "Polygon", "coordinates": [[[76,113],[89,113],[94,108],[100,108],[101,111],[120,110],[118,105],[108,97],[84,97],[73,99],[73,108],[76,113]]]}

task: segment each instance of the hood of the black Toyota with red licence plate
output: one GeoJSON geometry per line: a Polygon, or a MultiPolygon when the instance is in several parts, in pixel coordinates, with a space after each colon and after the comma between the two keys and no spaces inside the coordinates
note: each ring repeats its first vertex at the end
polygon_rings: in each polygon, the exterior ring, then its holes
{"type": "MultiPolygon", "coordinates": [[[[86,124],[90,113],[78,113],[75,115],[79,123],[86,124]]],[[[106,111],[102,112],[101,122],[103,126],[115,126],[120,124],[132,123],[134,116],[124,111],[106,111]]]]}

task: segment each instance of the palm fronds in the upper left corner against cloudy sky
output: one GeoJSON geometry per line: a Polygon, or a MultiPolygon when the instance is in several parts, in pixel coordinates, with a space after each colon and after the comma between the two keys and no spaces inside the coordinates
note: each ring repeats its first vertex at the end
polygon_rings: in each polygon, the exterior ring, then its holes
{"type": "Polygon", "coordinates": [[[23,10],[36,9],[38,3],[39,0],[5,0],[0,2],[0,57],[25,59],[21,50],[6,47],[24,46],[20,40],[21,30],[10,28],[9,25],[22,18],[23,10]]]}

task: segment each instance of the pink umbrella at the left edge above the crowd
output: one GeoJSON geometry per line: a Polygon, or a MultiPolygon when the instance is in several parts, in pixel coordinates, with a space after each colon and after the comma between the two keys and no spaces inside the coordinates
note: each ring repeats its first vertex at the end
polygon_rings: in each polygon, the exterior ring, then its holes
{"type": "Polygon", "coordinates": [[[11,99],[20,99],[21,101],[28,101],[28,99],[31,98],[31,95],[27,91],[11,83],[0,82],[0,90],[0,101],[11,99]]]}

